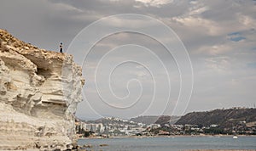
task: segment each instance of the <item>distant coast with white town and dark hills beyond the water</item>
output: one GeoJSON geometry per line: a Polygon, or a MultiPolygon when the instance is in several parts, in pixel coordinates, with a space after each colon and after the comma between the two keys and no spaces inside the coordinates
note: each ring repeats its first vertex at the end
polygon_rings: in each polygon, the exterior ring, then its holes
{"type": "Polygon", "coordinates": [[[78,137],[252,136],[256,135],[256,109],[236,107],[183,116],[145,115],[130,120],[77,119],[76,131],[78,137]]]}

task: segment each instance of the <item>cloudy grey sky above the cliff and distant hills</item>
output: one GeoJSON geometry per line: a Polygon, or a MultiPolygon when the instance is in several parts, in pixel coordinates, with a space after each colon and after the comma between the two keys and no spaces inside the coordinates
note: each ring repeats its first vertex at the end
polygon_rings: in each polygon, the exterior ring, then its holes
{"type": "Polygon", "coordinates": [[[255,0],[2,0],[0,28],[83,69],[77,116],[256,103],[255,0]]]}

